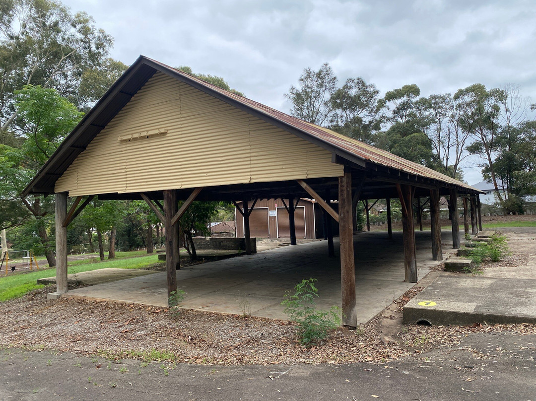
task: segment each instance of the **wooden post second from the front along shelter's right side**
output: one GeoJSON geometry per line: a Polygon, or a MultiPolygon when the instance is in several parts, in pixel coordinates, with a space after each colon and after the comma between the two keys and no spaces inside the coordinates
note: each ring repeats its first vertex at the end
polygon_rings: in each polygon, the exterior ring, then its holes
{"type": "Polygon", "coordinates": [[[397,185],[402,206],[402,229],[404,236],[404,271],[406,283],[417,282],[415,256],[415,227],[413,226],[413,189],[411,185],[397,185]]]}

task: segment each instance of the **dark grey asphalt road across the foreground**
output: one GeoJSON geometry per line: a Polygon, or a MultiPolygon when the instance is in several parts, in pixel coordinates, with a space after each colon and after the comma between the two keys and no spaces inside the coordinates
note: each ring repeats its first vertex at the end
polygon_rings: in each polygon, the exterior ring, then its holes
{"type": "Polygon", "coordinates": [[[385,364],[198,366],[0,352],[1,400],[536,401],[536,335],[479,333],[385,364]]]}

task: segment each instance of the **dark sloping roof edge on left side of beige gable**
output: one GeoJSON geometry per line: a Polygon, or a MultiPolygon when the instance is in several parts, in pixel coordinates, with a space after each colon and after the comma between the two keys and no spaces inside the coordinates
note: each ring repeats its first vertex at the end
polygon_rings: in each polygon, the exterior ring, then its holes
{"type": "MultiPolygon", "coordinates": [[[[49,173],[49,169],[51,168],[51,165],[53,165],[53,162],[58,158],[61,157],[65,152],[68,152],[70,148],[75,147],[76,148],[76,141],[82,135],[84,132],[84,129],[92,124],[93,121],[95,121],[95,118],[99,116],[99,114],[105,109],[111,102],[114,101],[115,95],[117,94],[123,94],[128,96],[133,96],[135,93],[126,93],[122,92],[122,88],[128,83],[128,80],[134,76],[139,69],[142,67],[143,63],[143,56],[139,56],[138,59],[128,68],[124,74],[121,76],[120,79],[115,81],[115,83],[109,88],[109,90],[99,99],[99,101],[96,103],[96,105],[88,112],[82,120],[78,123],[78,125],[71,131],[71,133],[65,138],[65,140],[58,146],[56,151],[51,155],[51,157],[45,162],[43,167],[39,170],[39,172],[35,175],[32,181],[26,185],[26,188],[22,192],[22,196],[27,196],[30,192],[34,194],[42,194],[47,195],[51,192],[49,191],[42,191],[38,190],[37,188],[33,188],[34,185],[41,180],[41,178],[46,174],[49,173]]],[[[102,129],[101,129],[102,130],[102,129]]],[[[99,130],[98,132],[100,132],[99,130]]],[[[98,133],[97,132],[97,133],[98,133]]],[[[92,138],[93,139],[93,138],[92,138]]],[[[80,149],[80,146],[78,146],[80,149]]],[[[62,172],[64,173],[64,172],[62,172]]]]}

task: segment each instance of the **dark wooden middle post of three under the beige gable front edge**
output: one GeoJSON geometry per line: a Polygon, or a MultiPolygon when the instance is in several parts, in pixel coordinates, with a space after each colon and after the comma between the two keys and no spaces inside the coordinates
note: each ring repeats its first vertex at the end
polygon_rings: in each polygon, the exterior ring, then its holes
{"type": "Polygon", "coordinates": [[[167,296],[177,291],[177,273],[180,269],[178,248],[178,224],[173,225],[172,219],[177,213],[177,192],[165,190],[164,192],[164,227],[166,230],[166,272],[167,296]]]}

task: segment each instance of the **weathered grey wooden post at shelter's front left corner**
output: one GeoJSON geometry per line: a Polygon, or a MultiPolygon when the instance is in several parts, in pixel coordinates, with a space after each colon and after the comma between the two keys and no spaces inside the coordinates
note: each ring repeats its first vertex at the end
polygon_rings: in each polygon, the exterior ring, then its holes
{"type": "Polygon", "coordinates": [[[56,294],[67,292],[67,194],[56,194],[56,294]]]}

